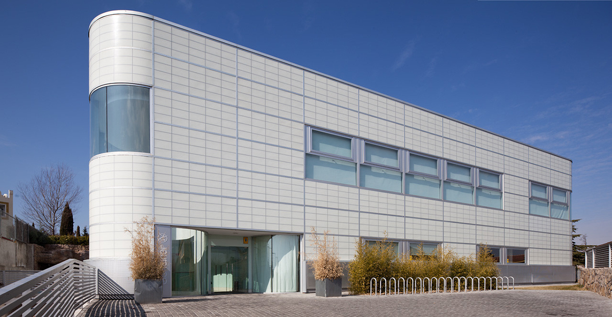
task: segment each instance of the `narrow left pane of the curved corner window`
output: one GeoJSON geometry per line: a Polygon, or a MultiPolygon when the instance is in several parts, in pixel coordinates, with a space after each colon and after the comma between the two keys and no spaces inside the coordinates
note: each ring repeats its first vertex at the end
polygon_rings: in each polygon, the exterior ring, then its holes
{"type": "Polygon", "coordinates": [[[106,88],[95,90],[89,100],[89,157],[106,152],[106,88]]]}

